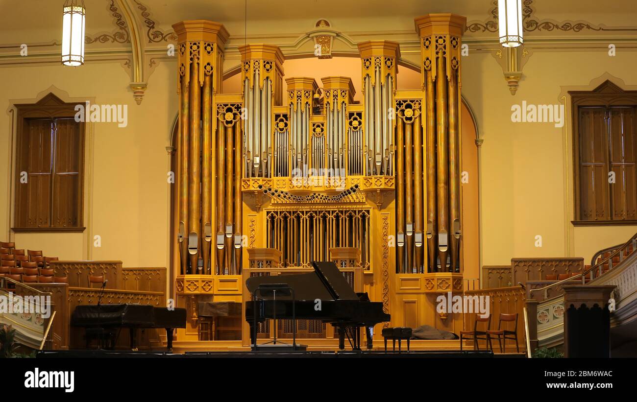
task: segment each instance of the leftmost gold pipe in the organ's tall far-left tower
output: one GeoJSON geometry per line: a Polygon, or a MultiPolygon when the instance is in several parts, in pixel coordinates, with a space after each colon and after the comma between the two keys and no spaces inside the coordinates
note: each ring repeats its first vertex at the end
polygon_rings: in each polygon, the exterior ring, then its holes
{"type": "Polygon", "coordinates": [[[186,81],[185,76],[182,76],[182,121],[181,121],[181,134],[180,144],[178,145],[178,151],[180,155],[179,166],[179,192],[180,192],[180,204],[179,204],[179,232],[182,235],[182,242],[180,244],[181,250],[181,266],[182,273],[188,274],[188,153],[189,153],[189,137],[188,137],[188,119],[189,119],[189,82],[186,81]]]}

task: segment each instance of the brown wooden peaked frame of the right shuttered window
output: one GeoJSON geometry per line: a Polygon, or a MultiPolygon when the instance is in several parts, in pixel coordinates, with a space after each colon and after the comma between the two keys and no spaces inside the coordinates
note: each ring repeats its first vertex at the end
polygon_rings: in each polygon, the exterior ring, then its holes
{"type": "MultiPolygon", "coordinates": [[[[592,91],[569,91],[573,122],[573,200],[575,201],[574,226],[637,225],[637,219],[610,219],[587,221],[581,219],[580,204],[580,107],[637,107],[637,91],[626,91],[606,80],[592,91]]],[[[636,138],[637,140],[637,138],[636,138]]],[[[612,205],[609,204],[612,208],[612,205]]]]}

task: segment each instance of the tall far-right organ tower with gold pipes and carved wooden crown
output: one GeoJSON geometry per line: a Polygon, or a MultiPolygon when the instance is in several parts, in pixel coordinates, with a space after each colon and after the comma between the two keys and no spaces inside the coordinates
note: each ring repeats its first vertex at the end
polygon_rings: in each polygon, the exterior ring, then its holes
{"type": "Polygon", "coordinates": [[[427,250],[429,271],[461,271],[459,99],[466,18],[416,18],[426,92],[427,250]],[[433,185],[435,183],[435,186],[433,185]],[[438,266],[440,268],[438,268],[438,266]]]}

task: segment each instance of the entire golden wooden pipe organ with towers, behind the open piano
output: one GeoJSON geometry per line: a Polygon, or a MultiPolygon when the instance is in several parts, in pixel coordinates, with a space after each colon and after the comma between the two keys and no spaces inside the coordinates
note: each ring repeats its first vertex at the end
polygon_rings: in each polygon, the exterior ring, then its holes
{"type": "MultiPolygon", "coordinates": [[[[359,43],[359,102],[350,77],[322,78],[321,87],[285,77],[282,51],[267,44],[239,46],[242,91],[224,94],[223,25],[173,27],[180,113],[172,268],[176,303],[188,312],[176,349],[210,348],[202,340],[247,347],[244,317],[210,323],[199,302],[241,303],[245,315],[248,277],[310,272],[311,261],[335,261],[355,291],[382,302],[392,317],[383,326],[460,331],[461,315],[438,314],[436,296],[462,292],[466,18],[415,19],[422,87],[413,90],[396,87],[398,43],[359,43]]],[[[259,337],[273,336],[270,325],[259,326],[259,337]]],[[[279,338],[291,336],[289,322],[277,325],[279,338]]],[[[322,322],[299,322],[297,337],[336,347],[322,322]]]]}

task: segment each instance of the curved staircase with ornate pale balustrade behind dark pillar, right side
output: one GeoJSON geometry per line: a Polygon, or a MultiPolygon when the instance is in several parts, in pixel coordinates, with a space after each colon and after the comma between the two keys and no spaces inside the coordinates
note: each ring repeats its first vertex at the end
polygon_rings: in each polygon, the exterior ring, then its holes
{"type": "Polygon", "coordinates": [[[636,251],[637,233],[624,244],[598,251],[580,274],[543,288],[531,289],[530,298],[539,302],[536,317],[538,347],[555,347],[564,343],[562,286],[569,284],[616,286],[612,293],[615,300],[615,310],[611,314],[612,347],[617,349],[626,343],[637,342],[636,251]],[[557,296],[547,298],[547,295],[556,293],[557,296]]]}

